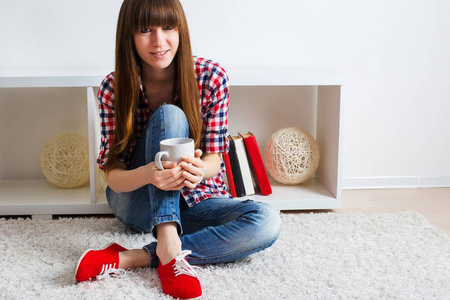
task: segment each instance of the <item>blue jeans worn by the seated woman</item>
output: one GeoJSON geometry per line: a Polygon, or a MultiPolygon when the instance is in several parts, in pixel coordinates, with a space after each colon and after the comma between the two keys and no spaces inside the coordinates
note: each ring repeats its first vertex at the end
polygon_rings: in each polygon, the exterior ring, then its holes
{"type": "MultiPolygon", "coordinates": [[[[188,135],[184,112],[174,105],[161,106],[150,116],[133,149],[129,169],[152,162],[161,140],[188,135]]],[[[182,248],[192,251],[186,257],[191,264],[246,257],[271,246],[280,233],[280,215],[266,203],[212,197],[189,208],[180,196],[180,191],[163,191],[151,184],[127,193],[106,190],[117,219],[136,232],[156,237],[158,224],[176,222],[182,248]]],[[[150,266],[157,267],[156,242],[143,249],[150,254],[150,266]]]]}

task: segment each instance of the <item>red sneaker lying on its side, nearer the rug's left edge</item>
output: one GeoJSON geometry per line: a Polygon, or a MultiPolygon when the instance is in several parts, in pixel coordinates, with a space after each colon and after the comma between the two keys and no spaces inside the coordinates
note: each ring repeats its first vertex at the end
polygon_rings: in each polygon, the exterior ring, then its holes
{"type": "Polygon", "coordinates": [[[128,249],[119,244],[111,244],[103,250],[87,250],[81,255],[75,268],[76,281],[102,279],[111,274],[121,275],[125,270],[119,269],[119,252],[128,249]]]}

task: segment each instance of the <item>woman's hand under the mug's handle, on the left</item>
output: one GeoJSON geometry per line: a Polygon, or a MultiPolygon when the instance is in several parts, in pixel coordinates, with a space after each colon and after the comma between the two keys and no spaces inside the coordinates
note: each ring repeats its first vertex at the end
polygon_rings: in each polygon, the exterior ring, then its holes
{"type": "Polygon", "coordinates": [[[150,172],[150,183],[164,191],[179,191],[185,186],[183,177],[184,169],[180,164],[161,161],[164,170],[159,170],[155,162],[151,162],[146,167],[150,172]]]}

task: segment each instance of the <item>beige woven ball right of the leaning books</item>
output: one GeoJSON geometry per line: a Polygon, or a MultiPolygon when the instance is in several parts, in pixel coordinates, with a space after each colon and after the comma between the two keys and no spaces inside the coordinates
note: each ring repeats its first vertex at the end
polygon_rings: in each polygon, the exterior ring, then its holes
{"type": "Polygon", "coordinates": [[[288,127],[272,134],[264,149],[264,159],[275,180],[293,185],[314,174],[319,166],[320,150],[309,133],[288,127]]]}

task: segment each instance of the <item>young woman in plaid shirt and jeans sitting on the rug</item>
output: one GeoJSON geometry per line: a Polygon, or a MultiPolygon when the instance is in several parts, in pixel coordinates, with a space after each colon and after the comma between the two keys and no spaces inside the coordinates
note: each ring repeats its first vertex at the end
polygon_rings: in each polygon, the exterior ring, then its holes
{"type": "Polygon", "coordinates": [[[98,92],[99,167],[115,216],[157,242],[128,250],[88,250],[77,281],[123,269],[157,267],[164,293],[202,295],[190,264],[234,261],[272,245],[281,228],[269,205],[232,199],[221,153],[228,150],[229,88],[225,71],[193,57],[178,0],[125,0],[117,24],[116,68],[98,92]],[[154,163],[159,142],[190,137],[195,157],[154,163]]]}

